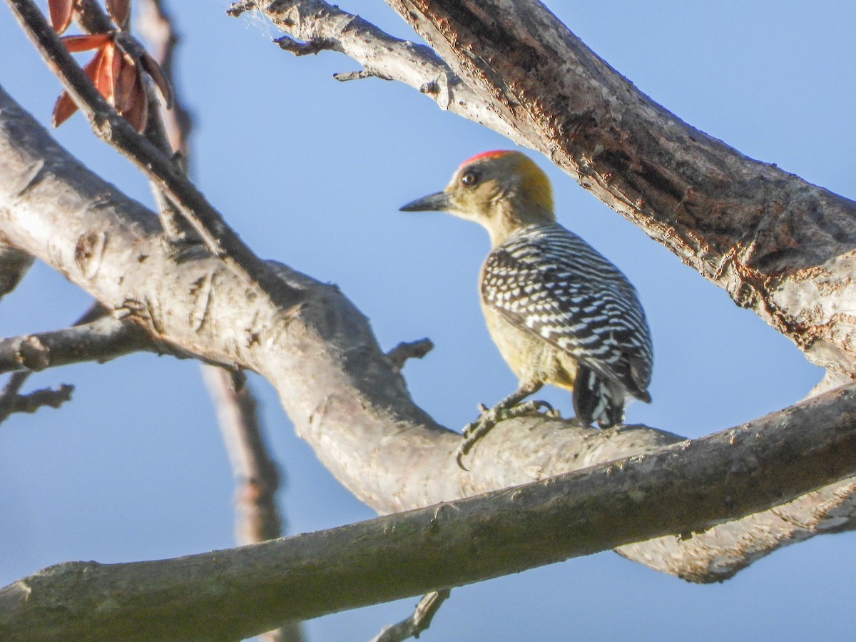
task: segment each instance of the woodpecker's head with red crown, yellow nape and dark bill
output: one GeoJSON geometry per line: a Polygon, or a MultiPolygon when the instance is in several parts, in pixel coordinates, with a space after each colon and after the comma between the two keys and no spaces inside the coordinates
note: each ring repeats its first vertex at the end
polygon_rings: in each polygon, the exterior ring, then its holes
{"type": "Polygon", "coordinates": [[[515,229],[553,223],[553,191],[547,175],[524,154],[484,152],[461,163],[449,185],[401,211],[447,211],[480,223],[496,247],[515,229]]]}

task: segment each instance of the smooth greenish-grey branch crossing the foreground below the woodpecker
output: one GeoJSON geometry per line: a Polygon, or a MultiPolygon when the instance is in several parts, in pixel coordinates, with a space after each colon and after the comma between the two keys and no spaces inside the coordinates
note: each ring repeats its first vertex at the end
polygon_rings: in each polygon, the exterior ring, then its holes
{"type": "Polygon", "coordinates": [[[67,562],[0,590],[0,637],[238,639],[704,531],[856,473],[854,416],[850,386],[647,455],[329,531],[173,560],[67,562]]]}

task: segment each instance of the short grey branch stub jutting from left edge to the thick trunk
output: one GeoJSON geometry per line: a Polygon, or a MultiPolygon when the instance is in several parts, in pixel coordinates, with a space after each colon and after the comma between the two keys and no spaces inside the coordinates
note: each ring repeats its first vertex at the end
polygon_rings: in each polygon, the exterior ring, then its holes
{"type": "Polygon", "coordinates": [[[140,351],[161,352],[139,325],[104,317],[62,330],[3,339],[0,341],[0,373],[39,372],[84,361],[104,363],[140,351]]]}

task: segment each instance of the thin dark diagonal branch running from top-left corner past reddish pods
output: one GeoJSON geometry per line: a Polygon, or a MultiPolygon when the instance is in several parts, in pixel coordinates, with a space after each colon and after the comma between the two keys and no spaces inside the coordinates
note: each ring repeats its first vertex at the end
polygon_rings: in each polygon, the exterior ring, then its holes
{"type": "Polygon", "coordinates": [[[265,262],[250,251],[181,169],[175,167],[175,163],[137,134],[104,101],[35,4],[31,0],[7,2],[51,70],[86,114],[98,137],[116,147],[169,195],[217,258],[250,281],[258,282],[272,300],[294,305],[294,290],[277,279],[265,262]]]}

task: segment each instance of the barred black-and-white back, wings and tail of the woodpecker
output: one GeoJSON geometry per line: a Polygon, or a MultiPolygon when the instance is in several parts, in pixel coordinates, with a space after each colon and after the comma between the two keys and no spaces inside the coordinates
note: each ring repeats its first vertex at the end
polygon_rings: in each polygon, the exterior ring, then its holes
{"type": "Polygon", "coordinates": [[[627,393],[651,401],[651,333],[635,288],[586,241],[556,223],[515,230],[484,262],[486,303],[578,364],[574,410],[621,423],[627,393]]]}

